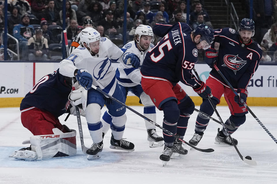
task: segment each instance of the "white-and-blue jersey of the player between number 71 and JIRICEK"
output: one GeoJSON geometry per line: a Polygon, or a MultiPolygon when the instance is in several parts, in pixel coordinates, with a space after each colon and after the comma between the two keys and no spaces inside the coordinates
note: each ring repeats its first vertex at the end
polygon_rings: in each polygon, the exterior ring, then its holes
{"type": "Polygon", "coordinates": [[[136,54],[141,60],[140,65],[142,65],[143,60],[149,50],[154,47],[153,44],[150,43],[149,47],[145,51],[139,51],[136,47],[135,41],[130,41],[126,45],[123,46],[122,50],[124,52],[123,55],[119,58],[118,68],[116,70],[116,78],[120,85],[125,87],[132,87],[141,84],[141,72],[139,68],[134,68],[132,65],[124,64],[124,59],[128,53],[136,54]]]}

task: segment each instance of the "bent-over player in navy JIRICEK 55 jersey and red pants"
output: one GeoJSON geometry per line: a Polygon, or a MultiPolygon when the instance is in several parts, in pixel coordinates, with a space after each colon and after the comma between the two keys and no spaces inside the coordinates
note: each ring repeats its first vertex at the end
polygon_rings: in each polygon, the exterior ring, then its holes
{"type": "MultiPolygon", "coordinates": [[[[214,41],[212,28],[205,24],[195,30],[181,22],[173,25],[156,24],[154,34],[162,37],[146,55],[141,68],[141,85],[159,110],[163,110],[163,128],[181,139],[184,137],[188,119],[194,111],[194,103],[177,83],[191,86],[202,98],[211,89],[192,74],[197,62],[197,49],[207,49],[214,41]]],[[[167,162],[173,151],[187,154],[182,142],[163,131],[164,151],[160,159],[167,162]]]]}

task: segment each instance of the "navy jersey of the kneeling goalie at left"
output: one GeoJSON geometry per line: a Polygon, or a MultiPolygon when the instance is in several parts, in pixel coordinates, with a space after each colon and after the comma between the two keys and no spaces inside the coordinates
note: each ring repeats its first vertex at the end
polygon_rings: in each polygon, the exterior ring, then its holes
{"type": "Polygon", "coordinates": [[[42,77],[27,93],[20,104],[20,111],[31,108],[39,108],[53,114],[56,118],[66,112],[69,106],[68,95],[71,85],[65,80],[65,76],[59,73],[59,69],[52,74],[42,77]]]}

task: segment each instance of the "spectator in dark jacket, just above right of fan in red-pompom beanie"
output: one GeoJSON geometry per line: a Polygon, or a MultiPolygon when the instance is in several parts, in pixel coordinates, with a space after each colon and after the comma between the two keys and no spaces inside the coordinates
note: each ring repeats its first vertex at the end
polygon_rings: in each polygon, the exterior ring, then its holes
{"type": "Polygon", "coordinates": [[[44,18],[45,20],[48,21],[49,24],[60,25],[61,24],[60,15],[59,15],[59,12],[56,9],[54,9],[54,7],[55,7],[55,1],[54,0],[48,1],[48,7],[46,7],[44,10],[44,18]]]}

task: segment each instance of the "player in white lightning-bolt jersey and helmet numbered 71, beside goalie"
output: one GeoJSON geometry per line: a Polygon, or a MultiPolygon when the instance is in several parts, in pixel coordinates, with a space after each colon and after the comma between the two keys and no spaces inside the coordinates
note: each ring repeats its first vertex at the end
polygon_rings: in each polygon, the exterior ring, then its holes
{"type": "MultiPolygon", "coordinates": [[[[115,78],[115,69],[110,59],[118,59],[123,51],[106,37],[88,27],[81,31],[81,45],[72,51],[71,55],[60,62],[61,74],[69,77],[76,76],[80,85],[89,90],[85,116],[93,144],[87,150],[89,160],[100,158],[103,148],[101,108],[104,104],[112,116],[112,149],[134,151],[134,144],[122,139],[126,123],[126,108],[102,95],[91,85],[100,87],[104,92],[124,102],[122,91],[115,78]],[[85,69],[81,69],[85,68],[85,69]],[[92,75],[91,75],[92,74],[92,75]],[[93,76],[93,77],[92,77],[93,76]]],[[[133,57],[134,54],[128,57],[133,57]]]]}

